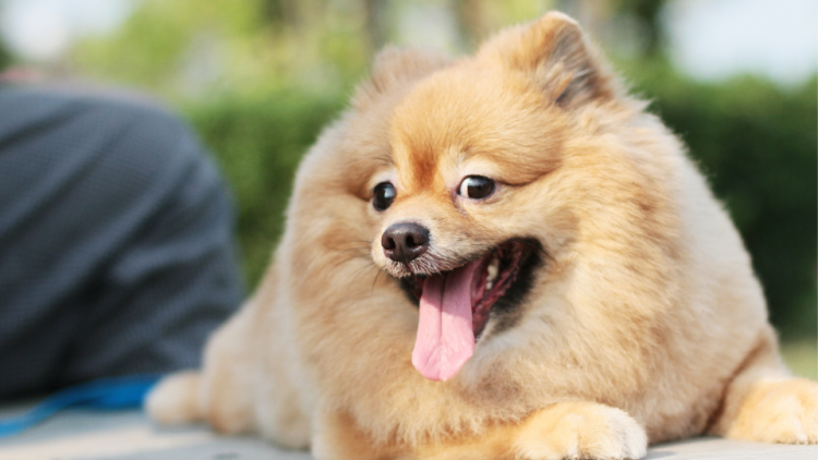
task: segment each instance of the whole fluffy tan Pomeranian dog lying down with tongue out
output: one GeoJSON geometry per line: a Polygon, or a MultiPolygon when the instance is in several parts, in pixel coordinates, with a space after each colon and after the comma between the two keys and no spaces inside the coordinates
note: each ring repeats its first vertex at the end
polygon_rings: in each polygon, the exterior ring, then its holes
{"type": "Polygon", "coordinates": [[[303,159],[275,261],[146,407],[318,459],[640,458],[818,441],[742,240],[560,13],[387,48],[303,159]]]}

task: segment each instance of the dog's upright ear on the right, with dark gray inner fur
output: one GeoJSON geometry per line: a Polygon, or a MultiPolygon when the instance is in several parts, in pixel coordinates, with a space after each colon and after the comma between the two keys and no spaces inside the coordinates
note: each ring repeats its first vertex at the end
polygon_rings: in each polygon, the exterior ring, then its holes
{"type": "Polygon", "coordinates": [[[530,73],[565,108],[603,102],[616,94],[612,74],[582,29],[558,12],[502,32],[480,48],[478,57],[530,73]]]}

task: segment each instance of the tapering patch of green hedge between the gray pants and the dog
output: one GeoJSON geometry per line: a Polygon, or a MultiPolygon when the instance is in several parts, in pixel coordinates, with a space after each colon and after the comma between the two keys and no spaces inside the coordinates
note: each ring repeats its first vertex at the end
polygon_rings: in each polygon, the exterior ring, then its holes
{"type": "Polygon", "coordinates": [[[184,109],[232,185],[249,287],[261,278],[284,228],[299,160],[342,102],[334,95],[279,89],[184,109]]]}

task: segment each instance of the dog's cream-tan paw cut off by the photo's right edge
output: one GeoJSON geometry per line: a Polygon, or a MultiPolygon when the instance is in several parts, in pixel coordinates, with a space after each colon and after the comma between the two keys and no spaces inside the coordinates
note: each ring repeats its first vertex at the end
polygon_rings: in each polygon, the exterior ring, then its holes
{"type": "Polygon", "coordinates": [[[818,444],[818,384],[804,378],[758,383],[725,434],[762,443],[818,444]]]}

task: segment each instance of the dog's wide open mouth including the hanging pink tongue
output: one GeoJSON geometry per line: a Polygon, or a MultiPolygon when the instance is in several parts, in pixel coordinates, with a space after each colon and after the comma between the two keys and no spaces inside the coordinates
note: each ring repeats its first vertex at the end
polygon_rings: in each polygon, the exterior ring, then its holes
{"type": "Polygon", "coordinates": [[[510,240],[448,271],[407,277],[420,299],[412,364],[426,378],[446,380],[471,358],[492,306],[506,295],[536,244],[510,240]]]}

